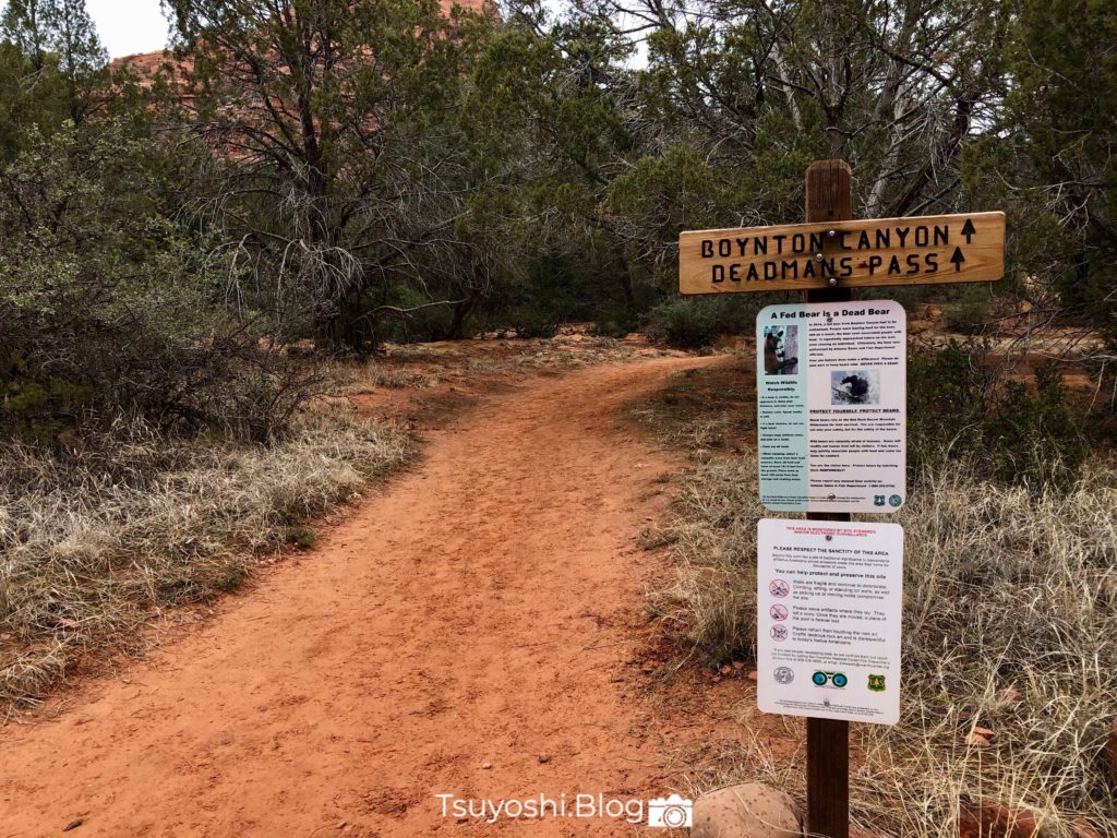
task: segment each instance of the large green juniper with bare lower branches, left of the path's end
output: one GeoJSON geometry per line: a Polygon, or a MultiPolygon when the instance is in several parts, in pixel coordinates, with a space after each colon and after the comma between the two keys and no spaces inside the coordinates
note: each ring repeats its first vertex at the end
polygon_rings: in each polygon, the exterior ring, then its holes
{"type": "Polygon", "coordinates": [[[456,107],[481,16],[437,0],[165,4],[182,122],[216,156],[197,207],[255,268],[239,295],[363,350],[380,315],[472,282],[456,107]]]}

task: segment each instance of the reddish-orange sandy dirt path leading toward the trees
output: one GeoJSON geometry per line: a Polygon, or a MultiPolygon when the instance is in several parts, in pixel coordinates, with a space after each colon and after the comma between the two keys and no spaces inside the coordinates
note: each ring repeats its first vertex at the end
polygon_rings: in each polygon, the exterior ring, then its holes
{"type": "Polygon", "coordinates": [[[432,434],[313,555],[0,732],[0,838],[642,834],[456,822],[435,796],[665,791],[624,689],[651,572],[633,537],[670,464],[615,409],[697,363],[534,379],[432,434]]]}

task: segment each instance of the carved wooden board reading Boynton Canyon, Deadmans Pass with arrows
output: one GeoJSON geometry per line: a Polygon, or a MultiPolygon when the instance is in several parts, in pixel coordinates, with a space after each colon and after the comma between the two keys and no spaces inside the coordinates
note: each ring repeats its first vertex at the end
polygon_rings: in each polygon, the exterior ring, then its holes
{"type": "Polygon", "coordinates": [[[1003,276],[1003,212],[687,230],[679,236],[682,294],[986,283],[1003,276]]]}

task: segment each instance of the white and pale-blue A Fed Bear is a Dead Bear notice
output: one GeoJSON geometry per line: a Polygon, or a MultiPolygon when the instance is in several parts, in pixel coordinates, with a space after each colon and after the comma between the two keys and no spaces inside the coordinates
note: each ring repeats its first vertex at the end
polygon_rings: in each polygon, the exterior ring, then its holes
{"type": "Polygon", "coordinates": [[[895,512],[907,470],[907,317],[892,302],[772,305],[756,318],[761,502],[895,512]]]}

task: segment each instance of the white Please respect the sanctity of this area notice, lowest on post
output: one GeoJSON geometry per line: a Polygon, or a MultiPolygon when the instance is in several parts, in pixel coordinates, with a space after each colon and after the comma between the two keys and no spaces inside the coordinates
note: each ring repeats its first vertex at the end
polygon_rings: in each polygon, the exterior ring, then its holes
{"type": "Polygon", "coordinates": [[[896,724],[903,527],[764,518],[756,541],[760,710],[896,724]]]}

